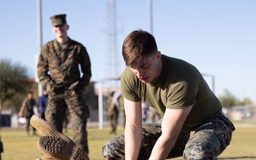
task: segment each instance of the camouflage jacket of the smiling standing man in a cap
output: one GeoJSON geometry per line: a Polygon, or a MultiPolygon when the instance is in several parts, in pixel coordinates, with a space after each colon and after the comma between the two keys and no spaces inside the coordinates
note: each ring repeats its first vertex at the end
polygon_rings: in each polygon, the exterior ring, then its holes
{"type": "Polygon", "coordinates": [[[64,48],[56,39],[47,42],[41,50],[37,67],[38,78],[44,87],[48,83],[63,84],[66,88],[79,83],[81,87],[85,87],[91,77],[90,58],[86,48],[70,38],[64,48]]]}

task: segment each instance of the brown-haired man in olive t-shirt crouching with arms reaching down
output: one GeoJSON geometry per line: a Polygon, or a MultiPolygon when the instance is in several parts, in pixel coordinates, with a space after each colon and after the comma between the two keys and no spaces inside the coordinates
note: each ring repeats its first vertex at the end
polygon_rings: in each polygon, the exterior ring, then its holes
{"type": "Polygon", "coordinates": [[[186,61],[162,55],[153,35],[143,30],[125,38],[122,55],[128,66],[121,76],[125,133],[103,146],[103,157],[217,160],[235,128],[201,73],[186,61]],[[142,100],[163,119],[141,125],[142,100]]]}

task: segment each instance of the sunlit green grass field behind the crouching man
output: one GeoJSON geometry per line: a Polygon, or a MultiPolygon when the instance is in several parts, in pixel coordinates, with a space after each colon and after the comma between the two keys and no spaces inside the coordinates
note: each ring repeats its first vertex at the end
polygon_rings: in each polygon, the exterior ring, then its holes
{"type": "MultiPolygon", "coordinates": [[[[109,134],[109,129],[88,128],[87,131],[90,160],[103,160],[102,146],[115,135],[109,134]]],[[[119,129],[117,134],[121,134],[123,131],[123,129],[119,129]]],[[[1,130],[0,135],[4,147],[4,152],[1,154],[2,160],[41,158],[41,152],[36,146],[38,137],[27,137],[24,130],[6,129],[1,130]]],[[[72,131],[68,130],[67,135],[72,138],[72,131]]],[[[173,160],[183,160],[183,158],[173,160]]],[[[256,160],[256,127],[236,126],[231,144],[218,157],[218,160],[256,160]]]]}

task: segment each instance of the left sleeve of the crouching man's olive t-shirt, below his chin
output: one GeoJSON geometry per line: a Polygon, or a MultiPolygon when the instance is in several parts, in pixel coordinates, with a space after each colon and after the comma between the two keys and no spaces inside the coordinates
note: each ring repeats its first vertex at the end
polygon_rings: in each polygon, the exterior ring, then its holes
{"type": "Polygon", "coordinates": [[[122,95],[129,101],[139,102],[141,99],[135,90],[136,77],[132,74],[130,68],[126,67],[121,75],[120,90],[122,92],[122,95]]]}

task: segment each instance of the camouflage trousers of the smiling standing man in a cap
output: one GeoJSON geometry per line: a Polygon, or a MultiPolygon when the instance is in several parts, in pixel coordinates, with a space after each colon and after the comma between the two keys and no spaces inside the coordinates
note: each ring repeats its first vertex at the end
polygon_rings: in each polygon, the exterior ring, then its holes
{"type": "Polygon", "coordinates": [[[45,119],[62,132],[66,110],[70,114],[73,128],[73,141],[76,145],[89,153],[87,144],[87,115],[89,110],[83,99],[82,90],[68,90],[63,85],[47,87],[48,104],[45,119]]]}

